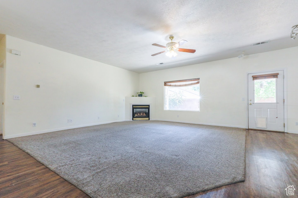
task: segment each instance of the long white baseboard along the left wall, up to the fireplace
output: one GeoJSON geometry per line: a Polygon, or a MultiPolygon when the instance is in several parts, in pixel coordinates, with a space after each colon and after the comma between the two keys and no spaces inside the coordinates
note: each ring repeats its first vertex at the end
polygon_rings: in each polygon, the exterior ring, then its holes
{"type": "Polygon", "coordinates": [[[56,128],[56,129],[46,129],[42,131],[33,131],[33,132],[28,132],[28,133],[19,133],[19,134],[13,134],[13,135],[5,135],[3,136],[3,139],[9,139],[9,138],[14,138],[14,137],[22,137],[22,136],[28,136],[28,135],[35,135],[35,134],[41,134],[41,133],[49,133],[49,132],[54,132],[54,131],[62,131],[62,130],[67,130],[67,129],[75,129],[75,128],[81,128],[85,126],[94,126],[94,125],[100,125],[100,124],[108,124],[108,123],[113,123],[113,122],[123,122],[125,120],[116,120],[116,121],[109,121],[109,122],[99,122],[99,123],[92,123],[92,124],[82,124],[82,125],[76,125],[76,126],[66,126],[66,127],[61,127],[61,128],[56,128]]]}

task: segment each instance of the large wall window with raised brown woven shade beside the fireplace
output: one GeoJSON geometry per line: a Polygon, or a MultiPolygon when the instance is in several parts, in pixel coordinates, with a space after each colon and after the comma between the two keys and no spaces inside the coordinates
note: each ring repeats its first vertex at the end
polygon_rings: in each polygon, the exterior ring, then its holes
{"type": "Polygon", "coordinates": [[[199,111],[200,79],[164,82],[164,110],[199,111]]]}

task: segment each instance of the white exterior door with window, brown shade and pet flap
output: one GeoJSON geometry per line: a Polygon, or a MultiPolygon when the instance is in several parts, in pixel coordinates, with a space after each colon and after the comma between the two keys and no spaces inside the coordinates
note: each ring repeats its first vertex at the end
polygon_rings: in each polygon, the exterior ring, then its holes
{"type": "Polygon", "coordinates": [[[283,71],[248,74],[248,128],[284,132],[283,71]]]}

